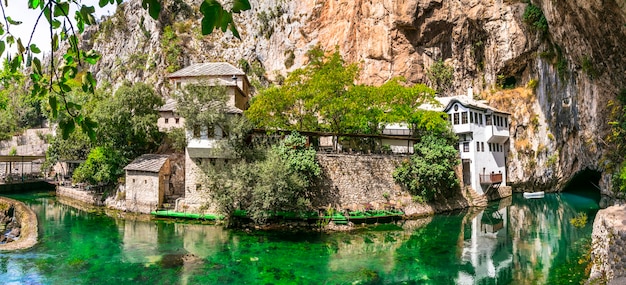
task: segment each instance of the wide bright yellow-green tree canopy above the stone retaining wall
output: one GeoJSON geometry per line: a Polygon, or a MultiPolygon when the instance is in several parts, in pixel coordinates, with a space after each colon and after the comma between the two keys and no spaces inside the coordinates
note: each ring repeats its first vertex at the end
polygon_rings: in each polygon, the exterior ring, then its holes
{"type": "Polygon", "coordinates": [[[380,133],[381,123],[407,122],[435,92],[421,84],[408,87],[394,78],[380,87],[355,85],[358,67],[346,64],[338,51],[325,55],[315,48],[309,64],[289,74],[284,85],[253,98],[246,116],[265,128],[380,133]]]}

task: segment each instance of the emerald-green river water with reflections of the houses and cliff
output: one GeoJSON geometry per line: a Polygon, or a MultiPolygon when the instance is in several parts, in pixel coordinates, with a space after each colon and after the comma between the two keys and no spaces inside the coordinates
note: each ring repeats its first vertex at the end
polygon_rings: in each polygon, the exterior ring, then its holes
{"type": "Polygon", "coordinates": [[[578,284],[594,199],[521,195],[350,233],[245,232],[113,218],[48,193],[9,195],[40,242],[0,252],[1,284],[578,284]],[[570,219],[586,213],[586,226],[570,219]]]}

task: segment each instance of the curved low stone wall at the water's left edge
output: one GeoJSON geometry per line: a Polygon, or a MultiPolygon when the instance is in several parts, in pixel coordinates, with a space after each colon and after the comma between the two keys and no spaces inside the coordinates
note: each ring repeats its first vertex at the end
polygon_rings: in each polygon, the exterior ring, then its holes
{"type": "Polygon", "coordinates": [[[25,249],[31,248],[37,244],[39,233],[37,215],[35,215],[35,212],[24,203],[5,197],[0,197],[0,204],[13,206],[15,209],[15,217],[21,226],[19,239],[10,243],[0,244],[0,250],[25,249]]]}

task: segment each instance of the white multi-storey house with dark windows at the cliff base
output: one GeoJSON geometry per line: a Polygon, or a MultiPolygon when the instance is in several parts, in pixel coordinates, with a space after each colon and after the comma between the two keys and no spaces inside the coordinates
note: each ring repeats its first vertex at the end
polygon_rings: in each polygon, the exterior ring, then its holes
{"type": "Polygon", "coordinates": [[[452,130],[459,137],[463,168],[462,185],[478,194],[506,185],[510,114],[468,95],[437,97],[441,106],[425,109],[448,114],[452,130]]]}

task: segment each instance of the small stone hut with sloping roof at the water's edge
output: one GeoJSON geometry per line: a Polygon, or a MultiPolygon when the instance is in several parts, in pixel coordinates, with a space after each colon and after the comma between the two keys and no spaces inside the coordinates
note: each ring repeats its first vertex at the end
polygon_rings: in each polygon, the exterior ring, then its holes
{"type": "Polygon", "coordinates": [[[163,206],[171,175],[168,155],[144,154],[124,170],[126,210],[150,213],[163,206]]]}

